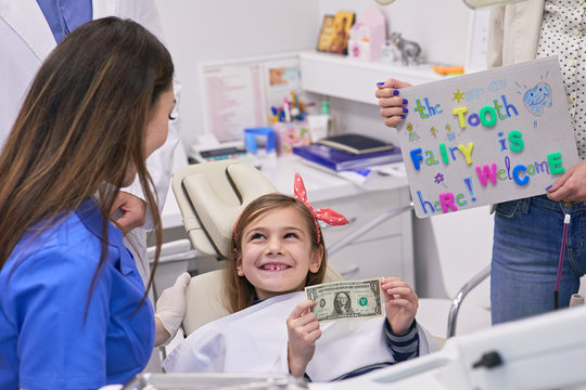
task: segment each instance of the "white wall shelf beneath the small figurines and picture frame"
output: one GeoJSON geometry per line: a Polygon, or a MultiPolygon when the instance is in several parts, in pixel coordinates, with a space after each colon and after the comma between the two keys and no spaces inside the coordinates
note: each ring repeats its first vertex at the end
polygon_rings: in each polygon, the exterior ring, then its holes
{"type": "Polygon", "coordinates": [[[300,61],[303,90],[375,105],[377,82],[396,78],[420,84],[446,77],[434,73],[431,64],[387,65],[316,51],[301,52],[300,61]]]}

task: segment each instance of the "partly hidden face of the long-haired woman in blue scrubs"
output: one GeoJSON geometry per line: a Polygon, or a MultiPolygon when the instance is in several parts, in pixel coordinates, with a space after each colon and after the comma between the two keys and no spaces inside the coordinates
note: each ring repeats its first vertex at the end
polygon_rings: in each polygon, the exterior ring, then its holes
{"type": "MultiPolygon", "coordinates": [[[[158,96],[149,121],[146,122],[146,131],[144,132],[144,154],[149,157],[154,151],[163,146],[167,140],[169,132],[169,118],[171,118],[173,110],[175,109],[175,94],[173,88],[163,92],[158,96]]],[[[128,167],[126,170],[125,180],[123,186],[128,186],[135,181],[137,176],[137,169],[128,167]]]]}

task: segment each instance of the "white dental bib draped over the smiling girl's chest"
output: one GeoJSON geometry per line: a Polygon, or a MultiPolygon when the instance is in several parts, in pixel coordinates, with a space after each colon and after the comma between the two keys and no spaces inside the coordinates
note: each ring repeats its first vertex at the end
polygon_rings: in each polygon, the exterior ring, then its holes
{"type": "MultiPolygon", "coordinates": [[[[305,299],[304,291],[282,295],[208,323],[177,346],[163,368],[167,373],[289,373],[285,320],[305,299]]],[[[393,362],[384,321],[320,324],[321,337],[307,375],[314,381],[329,381],[371,364],[393,362]]],[[[420,355],[436,349],[434,338],[419,326],[420,355]]]]}

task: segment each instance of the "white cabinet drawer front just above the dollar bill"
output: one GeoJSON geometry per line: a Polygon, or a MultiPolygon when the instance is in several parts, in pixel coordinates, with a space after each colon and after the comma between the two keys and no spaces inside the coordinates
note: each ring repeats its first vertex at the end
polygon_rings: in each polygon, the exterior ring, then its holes
{"type": "Polygon", "coordinates": [[[349,281],[388,276],[405,278],[403,257],[400,236],[395,235],[355,243],[328,261],[331,261],[342,276],[349,281]]]}

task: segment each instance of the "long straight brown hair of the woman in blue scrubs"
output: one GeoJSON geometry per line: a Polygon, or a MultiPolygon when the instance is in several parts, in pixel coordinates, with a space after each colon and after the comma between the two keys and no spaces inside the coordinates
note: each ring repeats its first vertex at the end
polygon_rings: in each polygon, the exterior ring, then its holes
{"type": "Polygon", "coordinates": [[[107,255],[110,210],[132,165],[153,220],[156,268],[162,227],[144,134],[160,95],[173,87],[173,73],[165,47],[139,24],[117,17],[79,26],[53,50],[0,155],[0,269],[34,225],[36,232],[55,225],[95,196],[103,240],[93,290],[107,255]]]}

